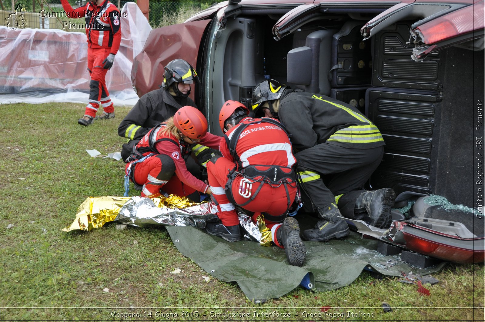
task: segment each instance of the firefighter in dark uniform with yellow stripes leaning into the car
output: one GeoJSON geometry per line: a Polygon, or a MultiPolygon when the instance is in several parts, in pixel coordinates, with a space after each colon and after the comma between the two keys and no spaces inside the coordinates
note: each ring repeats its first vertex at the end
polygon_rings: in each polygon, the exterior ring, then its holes
{"type": "Polygon", "coordinates": [[[305,240],[326,241],[349,234],[342,215],[389,227],[395,192],[364,189],[385,145],[369,119],[341,101],[291,90],[274,80],[259,83],[252,104],[256,116],[279,118],[291,134],[300,186],[309,198],[305,210],[316,210],[321,219],[302,232],[305,240]]]}

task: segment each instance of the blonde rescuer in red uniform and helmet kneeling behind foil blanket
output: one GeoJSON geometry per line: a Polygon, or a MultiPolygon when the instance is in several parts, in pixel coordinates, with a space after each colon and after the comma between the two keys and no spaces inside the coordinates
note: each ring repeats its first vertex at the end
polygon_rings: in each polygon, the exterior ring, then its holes
{"type": "Polygon", "coordinates": [[[142,137],[130,156],[126,173],[135,188],[142,191],[142,197],[155,198],[163,192],[178,196],[195,191],[210,194],[209,185],[187,170],[185,160],[190,157],[190,145],[199,143],[219,148],[220,141],[220,136],[207,132],[204,114],[192,106],[183,106],[174,117],[142,137]]]}

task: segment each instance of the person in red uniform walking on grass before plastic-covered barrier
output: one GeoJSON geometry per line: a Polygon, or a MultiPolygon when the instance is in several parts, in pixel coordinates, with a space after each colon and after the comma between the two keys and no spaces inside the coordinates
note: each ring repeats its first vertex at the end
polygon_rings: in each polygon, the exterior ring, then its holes
{"type": "Polygon", "coordinates": [[[114,55],[121,42],[120,12],[108,0],[90,0],[85,5],[73,9],[67,0],[61,0],[62,6],[70,18],[85,19],[88,43],[89,102],[84,116],[78,123],[83,126],[93,124],[94,120],[106,120],[114,117],[114,106],[106,87],[106,73],[113,66],[114,55]],[[99,107],[103,114],[96,116],[99,107]]]}

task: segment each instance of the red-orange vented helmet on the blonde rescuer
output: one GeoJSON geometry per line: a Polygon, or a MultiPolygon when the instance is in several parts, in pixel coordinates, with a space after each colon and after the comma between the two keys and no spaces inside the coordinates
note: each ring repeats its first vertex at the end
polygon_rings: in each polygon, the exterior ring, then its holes
{"type": "Polygon", "coordinates": [[[183,136],[200,139],[207,133],[207,119],[192,106],[183,106],[174,115],[174,124],[183,136]]]}

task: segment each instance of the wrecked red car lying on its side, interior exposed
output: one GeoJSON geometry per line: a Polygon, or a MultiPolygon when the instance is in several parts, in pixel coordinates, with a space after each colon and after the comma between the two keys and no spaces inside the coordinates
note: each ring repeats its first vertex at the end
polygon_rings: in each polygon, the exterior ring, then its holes
{"type": "Polygon", "coordinates": [[[131,78],[141,96],[172,59],[196,66],[192,95],[216,134],[222,104],[249,105],[264,79],[355,106],[386,142],[369,188],[409,208],[378,238],[483,262],[484,20],[483,0],[231,0],[153,30],[131,78]],[[288,55],[298,48],[311,59],[288,55]],[[311,81],[289,79],[295,66],[311,81]]]}

